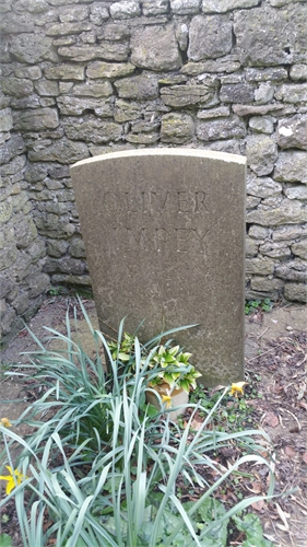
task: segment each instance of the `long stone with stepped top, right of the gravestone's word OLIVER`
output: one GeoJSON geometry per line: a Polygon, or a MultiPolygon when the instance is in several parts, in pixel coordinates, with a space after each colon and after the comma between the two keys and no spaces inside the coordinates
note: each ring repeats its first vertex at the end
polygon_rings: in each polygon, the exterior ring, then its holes
{"type": "Polygon", "coordinates": [[[284,199],[275,209],[257,209],[246,216],[248,223],[255,222],[263,226],[279,226],[282,224],[296,224],[307,222],[307,210],[303,209],[300,201],[284,199]]]}

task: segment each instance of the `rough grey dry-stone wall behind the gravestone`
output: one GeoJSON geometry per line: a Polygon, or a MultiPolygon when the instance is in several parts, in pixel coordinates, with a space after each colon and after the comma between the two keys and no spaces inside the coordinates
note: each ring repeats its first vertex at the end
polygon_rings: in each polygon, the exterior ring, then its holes
{"type": "Polygon", "coordinates": [[[122,149],[246,154],[247,298],[306,301],[305,0],[2,0],[5,334],[90,284],[69,165],[122,149]]]}

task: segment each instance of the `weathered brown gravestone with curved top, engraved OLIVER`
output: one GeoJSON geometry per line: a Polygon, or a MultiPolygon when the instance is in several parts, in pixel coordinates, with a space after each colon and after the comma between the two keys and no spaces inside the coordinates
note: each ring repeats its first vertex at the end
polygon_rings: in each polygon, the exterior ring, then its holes
{"type": "Polygon", "coordinates": [[[101,329],[176,334],[205,385],[244,380],[246,160],[146,149],[71,167],[101,329]]]}

